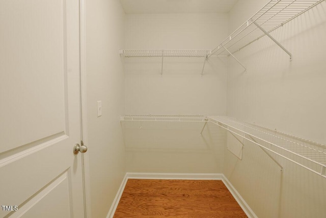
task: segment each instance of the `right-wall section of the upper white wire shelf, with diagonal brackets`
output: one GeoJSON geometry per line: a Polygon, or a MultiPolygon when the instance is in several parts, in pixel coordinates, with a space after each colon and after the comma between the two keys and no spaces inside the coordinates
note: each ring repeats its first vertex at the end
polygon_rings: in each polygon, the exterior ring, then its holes
{"type": "MultiPolygon", "coordinates": [[[[214,48],[208,57],[213,54],[218,56],[233,56],[235,52],[267,35],[286,51],[290,56],[290,60],[292,60],[291,53],[271,37],[269,33],[324,1],[325,0],[270,0],[256,14],[240,25],[239,28],[219,46],[214,48]]],[[[235,57],[233,56],[233,58],[235,57]]],[[[236,61],[239,62],[237,59],[236,61]]],[[[239,64],[241,63],[239,62],[239,64]]],[[[245,67],[243,68],[246,69],[245,67]]]]}

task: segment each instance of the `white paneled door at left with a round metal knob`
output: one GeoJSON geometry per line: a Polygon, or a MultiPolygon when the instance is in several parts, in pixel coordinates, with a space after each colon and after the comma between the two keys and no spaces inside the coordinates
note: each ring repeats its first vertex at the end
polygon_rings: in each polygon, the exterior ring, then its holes
{"type": "Polygon", "coordinates": [[[0,0],[0,217],[84,217],[79,1],[0,0]]]}

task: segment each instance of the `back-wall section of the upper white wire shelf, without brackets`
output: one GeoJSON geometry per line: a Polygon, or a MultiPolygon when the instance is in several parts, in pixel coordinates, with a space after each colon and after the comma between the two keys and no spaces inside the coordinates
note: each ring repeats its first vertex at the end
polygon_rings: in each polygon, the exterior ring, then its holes
{"type": "Polygon", "coordinates": [[[177,50],[177,49],[143,49],[120,50],[120,54],[127,58],[135,57],[207,57],[211,50],[177,50]]]}

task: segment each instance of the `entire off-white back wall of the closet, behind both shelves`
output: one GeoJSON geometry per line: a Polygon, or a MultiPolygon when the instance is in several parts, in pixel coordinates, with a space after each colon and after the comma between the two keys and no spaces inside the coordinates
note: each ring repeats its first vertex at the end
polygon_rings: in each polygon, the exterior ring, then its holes
{"type": "MultiPolygon", "coordinates": [[[[125,49],[212,49],[227,14],[126,15],[125,49]]],[[[124,58],[126,114],[225,115],[226,58],[124,58]]],[[[224,140],[204,123],[124,123],[128,172],[221,173],[224,140]],[[140,128],[142,127],[142,128],[140,128]],[[222,150],[221,150],[222,149],[222,150]]]]}

